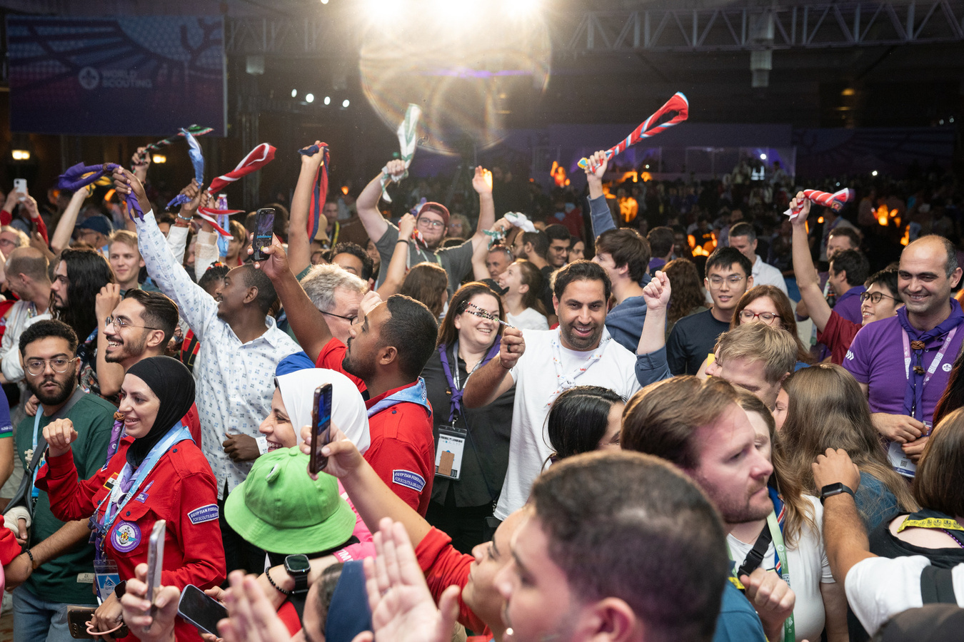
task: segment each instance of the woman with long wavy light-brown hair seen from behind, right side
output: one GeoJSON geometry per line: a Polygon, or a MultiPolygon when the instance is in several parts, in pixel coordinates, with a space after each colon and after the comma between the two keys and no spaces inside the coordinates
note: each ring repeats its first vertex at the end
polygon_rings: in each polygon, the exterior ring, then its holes
{"type": "Polygon", "coordinates": [[[789,474],[805,492],[819,493],[810,465],[826,449],[844,449],[860,469],[857,509],[868,529],[916,502],[907,482],[887,461],[880,435],[870,420],[867,397],[853,375],[836,364],[817,364],[794,372],[784,382],[787,419],[780,444],[789,474]]]}

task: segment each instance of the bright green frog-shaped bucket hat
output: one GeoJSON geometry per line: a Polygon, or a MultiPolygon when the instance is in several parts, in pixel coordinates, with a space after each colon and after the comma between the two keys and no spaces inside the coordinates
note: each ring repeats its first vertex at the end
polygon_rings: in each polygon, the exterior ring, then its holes
{"type": "Polygon", "coordinates": [[[308,455],[277,449],[254,461],[225,501],[231,528],[259,549],[291,554],[327,551],[351,537],[355,511],[338,495],[338,481],[308,476],[308,455]]]}

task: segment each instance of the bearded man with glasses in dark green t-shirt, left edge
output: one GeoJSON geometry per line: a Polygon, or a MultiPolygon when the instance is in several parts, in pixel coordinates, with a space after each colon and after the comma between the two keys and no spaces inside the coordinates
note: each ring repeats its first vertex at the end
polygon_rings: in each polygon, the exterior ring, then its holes
{"type": "MultiPolygon", "coordinates": [[[[77,471],[89,478],[104,464],[115,408],[77,386],[77,335],[62,321],[38,321],[20,335],[19,347],[27,386],[40,399],[37,416],[20,422],[13,437],[24,471],[34,451],[46,446],[43,426],[69,419],[79,434],[73,450],[77,471]]],[[[67,640],[67,604],[96,604],[94,547],[86,544],[91,530],[88,520],[61,522],[50,512],[47,494],[36,488],[33,493],[34,521],[29,533],[21,523],[20,533],[21,539],[29,534],[29,548],[5,569],[7,588],[15,587],[13,638],[67,640]]]]}

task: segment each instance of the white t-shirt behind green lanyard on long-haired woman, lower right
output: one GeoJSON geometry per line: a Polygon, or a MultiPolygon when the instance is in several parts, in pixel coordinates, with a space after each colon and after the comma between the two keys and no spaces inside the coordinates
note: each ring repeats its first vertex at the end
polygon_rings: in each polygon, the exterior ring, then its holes
{"type": "MultiPolygon", "coordinates": [[[[797,642],[800,640],[818,640],[826,619],[823,611],[823,596],[820,594],[820,584],[833,583],[834,577],[830,572],[830,562],[823,548],[821,533],[823,525],[823,506],[815,497],[804,495],[814,507],[814,521],[817,531],[803,523],[800,536],[794,543],[794,548],[787,549],[787,565],[790,566],[790,588],[796,594],[796,604],[793,606],[793,619],[797,642]]],[[[766,527],[766,526],[764,526],[766,527]]],[[[746,554],[753,549],[753,544],[740,542],[733,535],[727,535],[730,552],[739,566],[746,554]]],[[[770,542],[763,555],[763,569],[770,571],[776,568],[776,550],[770,542]]]]}

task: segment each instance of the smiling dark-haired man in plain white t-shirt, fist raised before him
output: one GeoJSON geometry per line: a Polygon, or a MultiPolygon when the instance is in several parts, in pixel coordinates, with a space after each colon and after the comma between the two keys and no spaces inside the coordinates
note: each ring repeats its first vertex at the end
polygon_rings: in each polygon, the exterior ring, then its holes
{"type": "Polygon", "coordinates": [[[605,270],[591,261],[576,261],[559,270],[552,295],[559,328],[504,328],[498,358],[466,382],[463,402],[469,408],[488,405],[517,386],[509,468],[495,506],[500,520],[522,507],[551,454],[546,418],[559,393],[595,385],[629,398],[639,390],[635,355],[605,329],[610,294],[605,270]]]}

